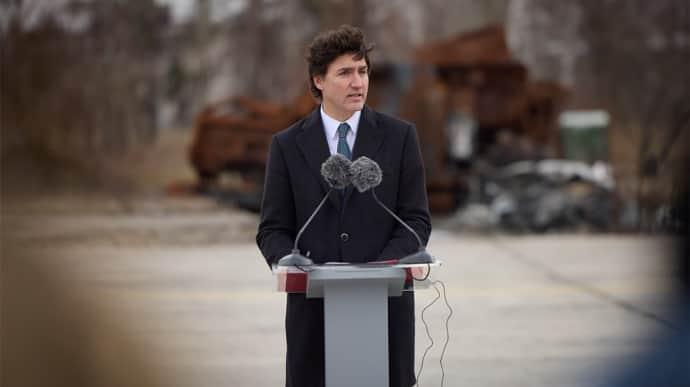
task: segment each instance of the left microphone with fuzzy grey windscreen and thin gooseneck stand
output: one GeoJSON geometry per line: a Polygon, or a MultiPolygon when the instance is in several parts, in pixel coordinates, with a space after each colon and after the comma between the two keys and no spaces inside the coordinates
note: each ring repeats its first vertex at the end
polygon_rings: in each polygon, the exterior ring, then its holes
{"type": "Polygon", "coordinates": [[[323,164],[321,164],[321,176],[323,176],[331,188],[328,190],[328,192],[326,192],[326,195],[321,200],[321,203],[319,203],[314,212],[312,212],[309,219],[307,219],[302,228],[300,228],[297,236],[295,237],[295,245],[292,248],[292,252],[283,258],[280,258],[278,261],[278,266],[309,266],[314,264],[314,261],[305,257],[299,251],[299,248],[297,247],[299,244],[299,239],[302,237],[302,233],[307,226],[309,226],[309,223],[311,223],[312,219],[314,219],[323,204],[326,202],[326,199],[328,199],[331,191],[333,191],[334,188],[343,189],[350,184],[351,164],[352,162],[350,159],[341,155],[340,153],[332,155],[331,157],[327,158],[323,164]]]}

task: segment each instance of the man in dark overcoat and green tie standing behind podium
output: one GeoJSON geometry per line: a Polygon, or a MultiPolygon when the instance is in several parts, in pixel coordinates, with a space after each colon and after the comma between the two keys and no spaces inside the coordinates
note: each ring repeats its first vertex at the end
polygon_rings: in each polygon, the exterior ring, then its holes
{"type": "MultiPolygon", "coordinates": [[[[426,244],[431,233],[424,166],[415,127],[365,106],[371,47],[351,26],[319,34],[309,47],[309,76],[319,108],[273,137],[257,244],[269,265],[289,254],[299,228],[328,191],[321,164],[334,153],[366,156],[383,171],[376,194],[426,244]]],[[[415,237],[370,192],[334,190],[299,242],[315,263],[399,259],[415,237]]],[[[323,299],[287,296],[286,386],[324,387],[323,299]]],[[[414,376],[414,294],[388,303],[390,386],[414,376]]]]}

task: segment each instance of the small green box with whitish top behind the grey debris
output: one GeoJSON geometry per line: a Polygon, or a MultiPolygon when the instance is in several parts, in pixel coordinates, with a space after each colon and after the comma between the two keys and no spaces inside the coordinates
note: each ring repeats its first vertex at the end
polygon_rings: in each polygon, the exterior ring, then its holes
{"type": "Polygon", "coordinates": [[[588,163],[608,161],[609,114],[603,110],[571,110],[558,118],[563,158],[588,163]]]}

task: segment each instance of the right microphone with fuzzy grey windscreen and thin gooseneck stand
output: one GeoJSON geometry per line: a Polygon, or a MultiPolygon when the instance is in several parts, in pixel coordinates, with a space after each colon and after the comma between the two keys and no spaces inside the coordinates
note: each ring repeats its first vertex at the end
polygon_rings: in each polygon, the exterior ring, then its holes
{"type": "Polygon", "coordinates": [[[397,215],[395,215],[395,213],[391,211],[388,207],[386,207],[386,205],[383,204],[376,196],[376,191],[374,190],[374,188],[381,184],[381,181],[383,180],[383,172],[381,172],[381,167],[379,167],[376,161],[366,156],[361,156],[360,158],[352,162],[352,165],[350,166],[350,176],[352,180],[352,185],[355,186],[355,188],[357,188],[357,191],[363,193],[371,189],[371,194],[374,196],[374,200],[376,201],[376,203],[378,203],[379,206],[381,206],[391,216],[393,216],[393,218],[395,218],[395,220],[397,220],[400,224],[405,226],[405,228],[409,232],[411,232],[412,235],[415,236],[415,238],[417,238],[417,242],[419,243],[419,250],[416,253],[410,254],[398,260],[398,263],[412,264],[434,262],[434,258],[426,252],[426,248],[424,247],[424,244],[422,243],[421,238],[419,238],[417,232],[407,223],[405,223],[402,219],[400,219],[397,215]]]}

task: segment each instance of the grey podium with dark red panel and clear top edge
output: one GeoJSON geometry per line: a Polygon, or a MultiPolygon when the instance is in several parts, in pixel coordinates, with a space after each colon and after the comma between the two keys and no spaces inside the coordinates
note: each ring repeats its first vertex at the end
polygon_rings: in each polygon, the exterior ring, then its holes
{"type": "Polygon", "coordinates": [[[274,267],[281,291],[324,300],[326,387],[389,385],[388,297],[400,296],[415,268],[397,264],[274,267]]]}

